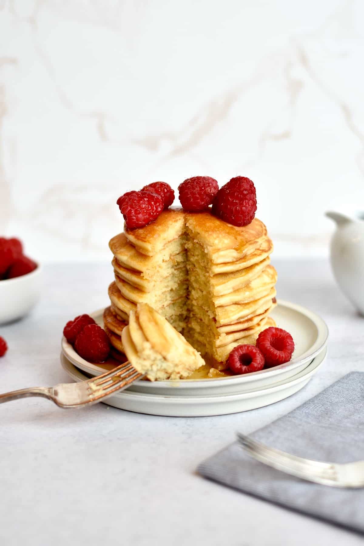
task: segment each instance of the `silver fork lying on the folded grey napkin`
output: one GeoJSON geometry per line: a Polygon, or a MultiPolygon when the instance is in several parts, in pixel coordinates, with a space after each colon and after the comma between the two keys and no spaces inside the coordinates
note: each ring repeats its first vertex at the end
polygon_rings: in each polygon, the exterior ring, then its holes
{"type": "Polygon", "coordinates": [[[254,459],[291,476],[334,487],[364,487],[364,461],[345,464],[313,461],[267,447],[240,433],[237,433],[237,438],[240,445],[254,459]]]}

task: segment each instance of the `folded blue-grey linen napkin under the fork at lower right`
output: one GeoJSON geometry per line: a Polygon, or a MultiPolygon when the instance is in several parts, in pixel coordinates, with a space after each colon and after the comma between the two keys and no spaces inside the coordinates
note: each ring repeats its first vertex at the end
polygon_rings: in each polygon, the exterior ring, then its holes
{"type": "MultiPolygon", "coordinates": [[[[364,373],[348,373],[251,436],[308,459],[363,460],[364,373]]],[[[364,533],[364,489],[305,482],[255,461],[237,443],[202,462],[198,472],[250,495],[364,533]]]]}

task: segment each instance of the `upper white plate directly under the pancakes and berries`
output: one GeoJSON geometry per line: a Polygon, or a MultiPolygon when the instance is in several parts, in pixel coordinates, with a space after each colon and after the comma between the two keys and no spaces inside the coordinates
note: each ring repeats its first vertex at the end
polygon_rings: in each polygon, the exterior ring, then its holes
{"type": "MultiPolygon", "coordinates": [[[[91,315],[98,324],[103,325],[103,310],[91,315]]],[[[323,319],[305,307],[288,301],[278,301],[272,312],[279,328],[290,332],[295,341],[293,359],[271,369],[248,373],[234,377],[219,379],[184,379],[181,381],[136,381],[129,390],[145,394],[190,396],[248,393],[265,388],[290,377],[295,376],[312,362],[313,358],[323,350],[327,343],[329,330],[323,319]]],[[[77,368],[100,375],[105,370],[95,364],[90,364],[81,358],[67,342],[62,339],[62,352],[77,368]]]]}

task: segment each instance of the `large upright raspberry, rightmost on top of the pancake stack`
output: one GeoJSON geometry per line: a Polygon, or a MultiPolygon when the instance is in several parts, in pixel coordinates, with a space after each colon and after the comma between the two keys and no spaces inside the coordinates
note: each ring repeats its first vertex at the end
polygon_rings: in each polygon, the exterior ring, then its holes
{"type": "Polygon", "coordinates": [[[212,212],[232,225],[248,225],[256,211],[254,183],[245,176],[236,176],[219,189],[212,212]]]}

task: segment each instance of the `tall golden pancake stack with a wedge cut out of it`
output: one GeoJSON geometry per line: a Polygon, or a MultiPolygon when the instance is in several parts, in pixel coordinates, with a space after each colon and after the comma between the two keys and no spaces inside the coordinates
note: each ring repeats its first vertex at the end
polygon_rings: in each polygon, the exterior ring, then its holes
{"type": "Polygon", "coordinates": [[[235,227],[210,211],[170,209],[144,228],[124,228],[109,246],[115,281],[104,323],[120,352],[139,303],[162,314],[212,365],[275,325],[268,316],[276,301],[273,245],[258,218],[235,227]]]}

